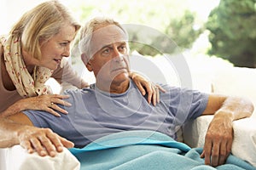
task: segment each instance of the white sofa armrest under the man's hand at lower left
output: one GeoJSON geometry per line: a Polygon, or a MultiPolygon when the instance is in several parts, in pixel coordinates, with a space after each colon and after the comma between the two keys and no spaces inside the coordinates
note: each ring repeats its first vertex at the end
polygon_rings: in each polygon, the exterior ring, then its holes
{"type": "Polygon", "coordinates": [[[38,153],[36,152],[28,154],[20,145],[0,149],[1,170],[79,170],[79,168],[79,161],[66,148],[64,148],[64,150],[55,157],[38,156],[38,153]]]}

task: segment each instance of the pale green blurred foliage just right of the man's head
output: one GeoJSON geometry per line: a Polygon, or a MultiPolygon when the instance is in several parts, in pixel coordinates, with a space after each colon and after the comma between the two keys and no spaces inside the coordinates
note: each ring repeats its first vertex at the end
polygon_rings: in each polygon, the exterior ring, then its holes
{"type": "MultiPolygon", "coordinates": [[[[147,45],[131,44],[131,49],[136,49],[140,54],[150,56],[161,53],[172,54],[186,48],[191,48],[195,39],[198,38],[203,31],[203,28],[194,29],[195,14],[188,10],[186,10],[181,17],[170,19],[168,23],[164,31],[166,36],[148,35],[148,38],[154,41],[147,45]],[[159,51],[159,49],[161,49],[161,51],[159,51]]],[[[135,32],[131,36],[136,39],[137,33],[135,32]]]]}

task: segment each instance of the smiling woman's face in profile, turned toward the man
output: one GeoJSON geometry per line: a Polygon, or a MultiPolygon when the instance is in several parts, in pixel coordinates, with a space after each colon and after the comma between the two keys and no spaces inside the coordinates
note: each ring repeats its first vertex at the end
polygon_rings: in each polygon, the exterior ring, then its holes
{"type": "Polygon", "coordinates": [[[55,70],[60,65],[61,59],[70,55],[70,46],[74,37],[75,27],[64,25],[54,37],[40,42],[42,58],[39,60],[38,66],[55,70]]]}

